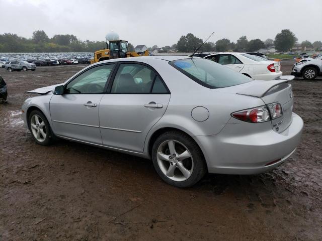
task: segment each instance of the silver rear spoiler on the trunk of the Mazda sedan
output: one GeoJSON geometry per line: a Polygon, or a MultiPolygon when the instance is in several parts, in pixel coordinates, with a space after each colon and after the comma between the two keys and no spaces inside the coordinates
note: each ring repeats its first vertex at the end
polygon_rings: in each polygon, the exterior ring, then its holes
{"type": "Polygon", "coordinates": [[[263,97],[273,87],[287,83],[294,79],[295,76],[284,75],[273,80],[254,80],[253,84],[245,89],[241,89],[237,94],[250,95],[255,97],[263,97]]]}

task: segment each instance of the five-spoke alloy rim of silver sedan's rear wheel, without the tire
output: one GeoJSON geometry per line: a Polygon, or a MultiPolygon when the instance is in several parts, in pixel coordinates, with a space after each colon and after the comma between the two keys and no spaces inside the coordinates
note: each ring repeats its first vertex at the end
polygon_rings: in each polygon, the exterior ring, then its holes
{"type": "Polygon", "coordinates": [[[157,149],[156,160],[163,174],[174,181],[186,181],[194,168],[188,148],[176,140],[161,143],[157,149]]]}

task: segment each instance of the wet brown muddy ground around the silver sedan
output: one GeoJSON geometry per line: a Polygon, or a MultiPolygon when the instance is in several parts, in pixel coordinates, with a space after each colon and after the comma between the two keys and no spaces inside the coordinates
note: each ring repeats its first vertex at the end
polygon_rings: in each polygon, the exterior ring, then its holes
{"type": "MultiPolygon", "coordinates": [[[[284,74],[292,61],[282,62],[284,74]]],[[[293,81],[302,142],[284,165],[253,176],[164,183],[148,160],[69,141],[36,145],[24,91],[82,66],[9,73],[0,105],[0,240],[322,240],[322,81],[293,81]]]]}

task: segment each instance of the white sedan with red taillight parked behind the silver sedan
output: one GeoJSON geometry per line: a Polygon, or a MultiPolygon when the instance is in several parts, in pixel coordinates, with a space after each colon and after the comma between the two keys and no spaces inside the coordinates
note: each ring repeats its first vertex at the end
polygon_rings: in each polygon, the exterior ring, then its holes
{"type": "Polygon", "coordinates": [[[211,54],[204,58],[225,65],[253,79],[273,80],[283,74],[280,62],[266,60],[256,55],[226,52],[211,54]]]}

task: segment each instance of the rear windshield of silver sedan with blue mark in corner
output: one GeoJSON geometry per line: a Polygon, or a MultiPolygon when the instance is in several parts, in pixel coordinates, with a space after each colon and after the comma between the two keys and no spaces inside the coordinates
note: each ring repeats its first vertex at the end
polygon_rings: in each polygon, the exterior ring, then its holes
{"type": "Polygon", "coordinates": [[[169,64],[208,88],[224,88],[252,81],[250,77],[237,73],[228,67],[202,58],[170,61],[169,64]]]}

